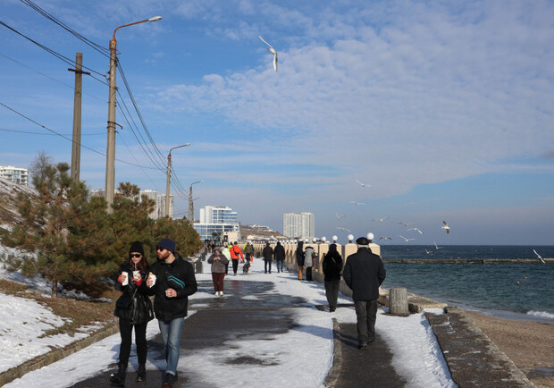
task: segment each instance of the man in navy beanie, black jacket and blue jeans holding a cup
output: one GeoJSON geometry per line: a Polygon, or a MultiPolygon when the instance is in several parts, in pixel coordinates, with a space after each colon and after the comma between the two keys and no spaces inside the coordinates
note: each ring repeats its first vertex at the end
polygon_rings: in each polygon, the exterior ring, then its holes
{"type": "Polygon", "coordinates": [[[157,245],[158,260],[150,267],[155,275],[148,276],[148,293],[155,295],[154,312],[164,341],[164,388],[172,388],[177,381],[177,363],[180,353],[180,335],[188,314],[189,295],[197,291],[194,267],[175,251],[175,241],[162,239],[157,245]]]}

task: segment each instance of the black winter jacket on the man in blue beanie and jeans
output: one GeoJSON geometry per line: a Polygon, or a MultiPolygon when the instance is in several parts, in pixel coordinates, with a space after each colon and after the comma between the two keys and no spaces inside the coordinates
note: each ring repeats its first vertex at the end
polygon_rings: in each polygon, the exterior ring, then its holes
{"type": "Polygon", "coordinates": [[[172,263],[158,260],[150,266],[150,272],[156,276],[155,284],[148,289],[148,294],[155,295],[155,317],[167,322],[187,316],[189,295],[195,293],[198,288],[194,267],[175,253],[172,263]],[[175,298],[165,296],[165,290],[170,288],[177,291],[175,298]]]}

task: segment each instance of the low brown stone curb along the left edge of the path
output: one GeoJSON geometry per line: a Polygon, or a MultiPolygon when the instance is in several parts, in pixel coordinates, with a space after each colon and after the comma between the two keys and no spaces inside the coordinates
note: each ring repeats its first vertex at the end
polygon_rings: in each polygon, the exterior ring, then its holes
{"type": "Polygon", "coordinates": [[[88,337],[83,338],[76,342],[71,342],[69,345],[61,349],[51,350],[45,354],[37,356],[36,358],[29,359],[17,367],[6,370],[0,374],[0,386],[13,382],[13,380],[20,378],[33,370],[46,367],[50,364],[59,361],[62,358],[70,356],[71,354],[82,350],[89,345],[104,340],[106,337],[119,333],[119,325],[117,323],[110,323],[99,331],[90,334],[88,337]]]}

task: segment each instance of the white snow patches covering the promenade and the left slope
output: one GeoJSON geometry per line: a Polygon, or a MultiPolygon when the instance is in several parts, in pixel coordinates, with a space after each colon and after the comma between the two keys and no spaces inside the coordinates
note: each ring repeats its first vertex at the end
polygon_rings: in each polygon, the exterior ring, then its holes
{"type": "MultiPolygon", "coordinates": [[[[210,280],[207,273],[209,266],[204,266],[206,273],[197,274],[198,280],[210,280]]],[[[0,270],[1,274],[1,270],[0,270]]],[[[240,282],[271,281],[274,283],[274,295],[286,294],[301,296],[311,305],[326,303],[323,284],[298,282],[295,274],[264,274],[264,262],[255,259],[248,276],[232,277],[240,282]],[[276,291],[276,292],[275,292],[276,291]]],[[[214,297],[212,293],[201,291],[190,299],[214,297]]],[[[223,297],[225,298],[225,297],[223,297]]],[[[245,298],[256,298],[250,295],[245,298]]],[[[340,295],[340,303],[351,303],[351,299],[340,295]]],[[[29,300],[9,297],[0,294],[2,306],[8,305],[13,314],[3,314],[0,323],[0,366],[17,353],[34,357],[45,350],[47,344],[62,345],[63,337],[56,336],[38,341],[47,326],[60,325],[61,319],[55,317],[46,308],[29,300]],[[21,314],[25,311],[25,315],[21,314]],[[39,343],[35,343],[39,342],[39,343]],[[23,349],[23,351],[21,351],[23,349]],[[14,351],[15,350],[15,351],[14,351]]],[[[332,367],[332,317],[340,323],[356,323],[354,308],[338,308],[334,313],[317,308],[291,307],[294,314],[295,330],[287,333],[267,334],[273,341],[259,341],[258,336],[241,337],[228,347],[217,349],[181,352],[180,373],[194,371],[200,375],[206,386],[252,386],[263,382],[264,386],[308,387],[323,386],[325,376],[332,367]],[[232,346],[231,346],[232,345],[232,346]],[[222,360],[248,355],[260,358],[274,358],[278,365],[264,366],[226,365],[222,360]],[[263,357],[262,357],[263,356],[263,357]],[[214,373],[217,370],[217,373],[214,373]],[[286,373],[284,373],[286,371],[286,373]]],[[[393,353],[392,365],[397,373],[404,377],[408,386],[413,387],[450,387],[456,386],[452,381],[449,369],[441,355],[440,347],[423,314],[408,317],[387,316],[386,309],[380,309],[377,316],[376,332],[390,346],[393,353]]],[[[440,314],[441,311],[435,311],[440,314]]],[[[194,311],[190,311],[190,315],[194,311]]],[[[152,321],[147,328],[147,338],[153,338],[159,332],[157,322],[152,321]]],[[[120,336],[112,335],[84,350],[37,371],[30,372],[13,381],[6,387],[45,387],[71,386],[96,375],[98,371],[107,370],[118,357],[120,336]]],[[[134,351],[133,351],[134,353],[134,351]]],[[[133,355],[131,354],[131,360],[133,355]]],[[[18,358],[15,363],[21,363],[18,358]]],[[[150,362],[150,361],[149,361],[150,362]]],[[[133,362],[130,363],[132,368],[133,362]]],[[[147,365],[148,369],[164,368],[164,365],[147,365]]]]}

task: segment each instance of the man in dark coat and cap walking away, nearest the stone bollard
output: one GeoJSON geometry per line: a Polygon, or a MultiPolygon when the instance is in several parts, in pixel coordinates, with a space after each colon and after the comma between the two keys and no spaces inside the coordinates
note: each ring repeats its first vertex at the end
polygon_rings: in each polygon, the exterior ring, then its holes
{"type": "Polygon", "coordinates": [[[381,257],[369,249],[370,242],[365,237],[356,240],[357,253],[347,257],[343,272],[344,282],[352,289],[357,316],[357,347],[360,350],[367,349],[367,342],[375,339],[379,286],[386,276],[381,257]]]}

